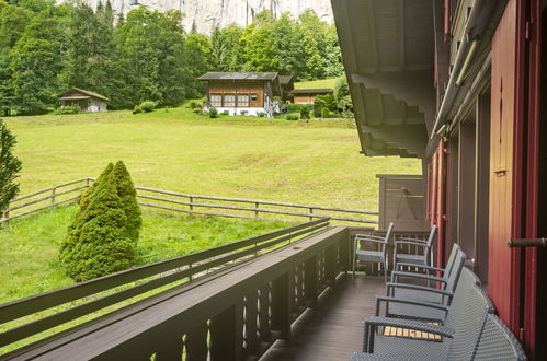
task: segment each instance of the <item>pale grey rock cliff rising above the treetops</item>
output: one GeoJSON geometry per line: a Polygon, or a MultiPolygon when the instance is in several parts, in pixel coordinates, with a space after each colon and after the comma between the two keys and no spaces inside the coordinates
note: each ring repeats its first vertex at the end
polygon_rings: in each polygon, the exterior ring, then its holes
{"type": "MultiPolygon", "coordinates": [[[[93,9],[99,2],[86,1],[93,9]]],[[[285,11],[298,16],[306,9],[314,9],[322,20],[332,22],[330,0],[111,0],[111,3],[117,13],[124,14],[139,4],[149,10],[180,10],[185,14],[183,25],[186,30],[190,30],[195,21],[197,31],[206,34],[210,33],[216,24],[220,27],[233,22],[242,26],[249,25],[254,14],[262,10],[270,10],[277,18],[285,11]]]]}

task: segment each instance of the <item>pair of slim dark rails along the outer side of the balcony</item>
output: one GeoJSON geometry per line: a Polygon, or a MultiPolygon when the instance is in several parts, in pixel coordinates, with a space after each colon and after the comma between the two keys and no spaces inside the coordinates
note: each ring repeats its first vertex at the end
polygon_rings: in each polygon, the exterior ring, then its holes
{"type": "MultiPolygon", "coordinates": [[[[206,276],[221,273],[259,255],[269,254],[296,241],[305,241],[311,235],[317,236],[329,229],[329,220],[321,219],[0,304],[0,325],[16,321],[8,330],[0,334],[0,349],[122,301],[144,294],[151,296],[147,292],[161,290],[161,287],[169,284],[171,289],[180,287],[179,283],[173,282],[183,280],[187,283],[194,280],[194,283],[200,284],[201,279],[209,279],[206,276]],[[101,293],[109,290],[110,293],[101,293]],[[77,302],[79,303],[75,305],[77,302]],[[61,310],[54,308],[61,305],[65,305],[61,310]],[[36,313],[46,310],[50,311],[49,314],[34,317],[36,313]]],[[[136,301],[132,304],[136,304],[136,301]]],[[[125,305],[125,307],[128,306],[125,305]]],[[[59,335],[72,333],[75,329],[70,328],[59,335]]],[[[30,348],[39,345],[38,341],[30,348]]]]}

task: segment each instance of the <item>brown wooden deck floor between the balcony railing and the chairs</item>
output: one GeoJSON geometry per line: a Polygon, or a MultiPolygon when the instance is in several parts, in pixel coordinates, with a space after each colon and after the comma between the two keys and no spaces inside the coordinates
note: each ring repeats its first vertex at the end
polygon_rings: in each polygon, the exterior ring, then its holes
{"type": "Polygon", "coordinates": [[[276,341],[261,361],[349,360],[362,349],[363,319],[374,314],[376,295],[385,290],[383,277],[340,280],[317,310],[307,311],[298,322],[293,339],[276,341]]]}

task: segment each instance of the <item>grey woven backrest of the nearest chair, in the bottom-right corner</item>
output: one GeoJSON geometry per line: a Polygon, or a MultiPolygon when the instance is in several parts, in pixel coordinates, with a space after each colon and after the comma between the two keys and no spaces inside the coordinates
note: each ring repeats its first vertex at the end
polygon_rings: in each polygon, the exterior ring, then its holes
{"type": "Polygon", "coordinates": [[[495,315],[488,315],[474,360],[526,360],[521,343],[495,315]]]}

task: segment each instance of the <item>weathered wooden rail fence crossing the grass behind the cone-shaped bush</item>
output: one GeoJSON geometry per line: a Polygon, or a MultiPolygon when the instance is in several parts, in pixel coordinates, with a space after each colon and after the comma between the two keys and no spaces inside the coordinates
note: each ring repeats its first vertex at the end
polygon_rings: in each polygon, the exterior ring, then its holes
{"type": "MultiPolygon", "coordinates": [[[[94,180],[94,178],[72,180],[19,197],[10,203],[3,218],[0,219],[0,223],[49,207],[75,201],[79,198],[82,189],[89,187],[94,180]],[[25,202],[22,202],[23,200],[25,200],[25,202]]],[[[312,221],[328,217],[333,221],[343,223],[378,224],[378,212],[375,211],[259,199],[191,195],[141,186],[136,186],[136,189],[138,203],[143,207],[159,208],[191,214],[244,219],[277,219],[284,221],[296,221],[301,219],[312,221]],[[366,219],[364,218],[365,216],[367,217],[366,219]]]]}

